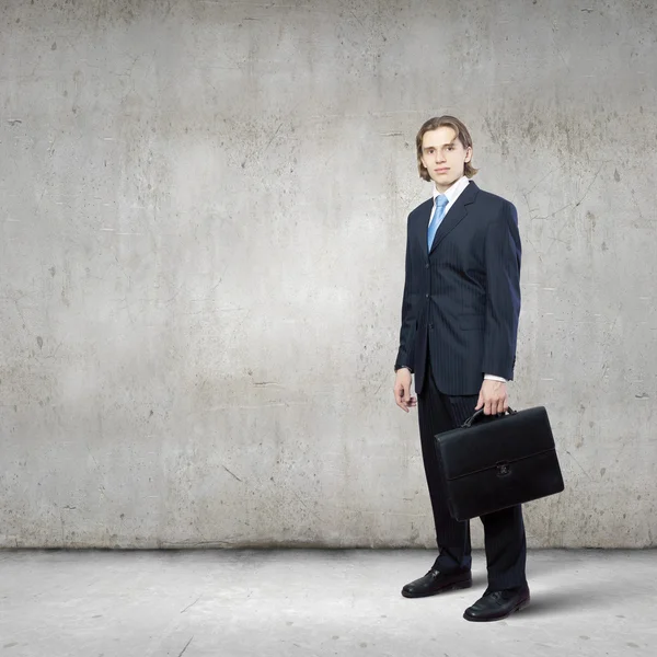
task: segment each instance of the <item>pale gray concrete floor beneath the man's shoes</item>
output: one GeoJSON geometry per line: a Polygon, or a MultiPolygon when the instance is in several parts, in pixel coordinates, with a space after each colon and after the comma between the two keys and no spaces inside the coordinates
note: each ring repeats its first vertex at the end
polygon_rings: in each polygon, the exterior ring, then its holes
{"type": "Polygon", "coordinates": [[[475,624],[485,588],[400,596],[418,551],[0,552],[0,655],[657,655],[657,552],[529,556],[532,604],[475,624]]]}

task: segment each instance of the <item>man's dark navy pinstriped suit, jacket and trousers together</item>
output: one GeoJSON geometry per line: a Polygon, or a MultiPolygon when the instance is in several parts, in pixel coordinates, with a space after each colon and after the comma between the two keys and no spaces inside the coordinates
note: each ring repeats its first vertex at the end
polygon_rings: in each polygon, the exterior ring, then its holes
{"type": "MultiPolygon", "coordinates": [[[[397,366],[415,371],[419,434],[436,539],[436,567],[470,567],[470,525],[449,515],[434,443],[476,404],[484,373],[512,379],[520,313],[520,234],[512,204],[470,183],[427,246],[433,200],[408,216],[397,366]]],[[[520,507],[482,518],[488,587],[526,583],[520,507]]]]}

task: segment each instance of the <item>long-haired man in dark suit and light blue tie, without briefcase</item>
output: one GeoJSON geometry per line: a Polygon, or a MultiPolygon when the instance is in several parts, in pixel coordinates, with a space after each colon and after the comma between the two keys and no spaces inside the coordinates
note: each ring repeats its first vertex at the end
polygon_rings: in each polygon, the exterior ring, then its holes
{"type": "MultiPolygon", "coordinates": [[[[472,586],[470,525],[449,514],[434,436],[475,410],[491,415],[508,408],[520,313],[516,208],[470,181],[476,169],[468,128],[452,116],[431,118],[416,147],[419,175],[433,181],[434,195],[408,216],[394,394],[406,413],[418,407],[439,554],[424,577],[404,586],[406,598],[472,586]]],[[[482,522],[488,587],[463,616],[496,621],[529,603],[521,507],[482,522]]]]}

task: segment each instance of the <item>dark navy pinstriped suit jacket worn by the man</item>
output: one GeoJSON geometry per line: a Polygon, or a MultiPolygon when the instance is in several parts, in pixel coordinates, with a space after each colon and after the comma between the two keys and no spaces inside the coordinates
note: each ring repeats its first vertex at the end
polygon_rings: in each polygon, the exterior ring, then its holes
{"type": "Polygon", "coordinates": [[[472,181],[427,250],[429,199],[408,215],[406,283],[396,367],[425,384],[427,355],[438,390],[479,394],[484,374],[514,378],[520,314],[520,234],[511,203],[472,181]]]}

